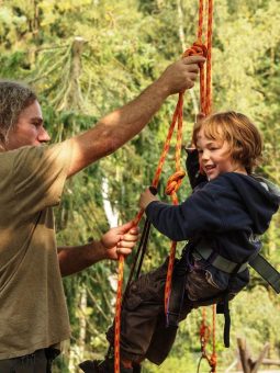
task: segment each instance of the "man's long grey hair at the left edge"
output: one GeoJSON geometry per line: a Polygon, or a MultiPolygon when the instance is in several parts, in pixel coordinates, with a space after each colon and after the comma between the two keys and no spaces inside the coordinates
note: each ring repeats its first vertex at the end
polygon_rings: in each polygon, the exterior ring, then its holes
{"type": "Polygon", "coordinates": [[[5,149],[9,132],[14,128],[21,112],[37,100],[27,86],[11,80],[0,80],[0,150],[5,149]]]}

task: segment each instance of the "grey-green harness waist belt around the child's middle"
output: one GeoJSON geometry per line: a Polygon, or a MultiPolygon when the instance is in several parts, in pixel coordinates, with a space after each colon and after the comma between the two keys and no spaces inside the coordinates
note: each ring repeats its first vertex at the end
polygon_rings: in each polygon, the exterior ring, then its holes
{"type": "Polygon", "coordinates": [[[239,273],[246,270],[248,262],[245,263],[235,263],[232,260],[228,260],[219,253],[215,253],[214,250],[212,250],[209,247],[205,246],[198,246],[194,249],[194,258],[195,252],[200,255],[201,258],[205,260],[210,260],[210,263],[219,269],[220,271],[226,272],[226,273],[239,273]]]}

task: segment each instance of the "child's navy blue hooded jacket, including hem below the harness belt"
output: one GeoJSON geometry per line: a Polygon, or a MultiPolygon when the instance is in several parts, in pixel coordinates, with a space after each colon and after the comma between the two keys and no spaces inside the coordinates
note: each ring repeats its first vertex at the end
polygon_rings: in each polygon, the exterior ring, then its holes
{"type": "MultiPolygon", "coordinates": [[[[279,195],[265,179],[236,172],[225,172],[216,179],[200,183],[180,205],[152,202],[146,215],[152,224],[175,241],[202,237],[224,258],[244,263],[256,252],[251,240],[269,227],[279,207],[279,195]]],[[[222,290],[238,292],[249,280],[248,270],[232,276],[205,267],[222,290]]]]}

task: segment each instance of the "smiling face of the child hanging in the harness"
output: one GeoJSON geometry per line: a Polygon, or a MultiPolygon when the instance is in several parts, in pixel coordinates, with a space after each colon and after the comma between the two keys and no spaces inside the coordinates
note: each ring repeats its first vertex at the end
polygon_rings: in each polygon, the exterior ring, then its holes
{"type": "Polygon", "coordinates": [[[232,159],[228,143],[206,137],[203,127],[198,133],[197,148],[200,165],[209,180],[224,172],[247,173],[240,163],[232,159]]]}

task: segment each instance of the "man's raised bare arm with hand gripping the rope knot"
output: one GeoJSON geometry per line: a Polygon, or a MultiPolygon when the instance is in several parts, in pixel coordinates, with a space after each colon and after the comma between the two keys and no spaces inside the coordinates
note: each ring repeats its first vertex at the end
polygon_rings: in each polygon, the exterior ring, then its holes
{"type": "Polygon", "coordinates": [[[193,87],[199,72],[198,64],[204,60],[204,57],[190,56],[170,65],[135,100],[104,116],[93,128],[72,137],[68,177],[115,151],[138,134],[168,95],[193,87]]]}

